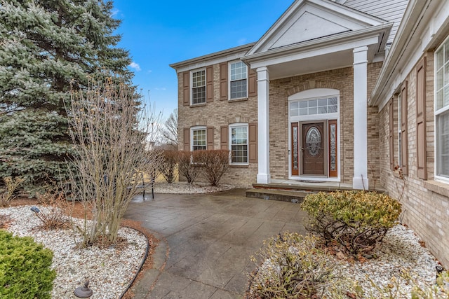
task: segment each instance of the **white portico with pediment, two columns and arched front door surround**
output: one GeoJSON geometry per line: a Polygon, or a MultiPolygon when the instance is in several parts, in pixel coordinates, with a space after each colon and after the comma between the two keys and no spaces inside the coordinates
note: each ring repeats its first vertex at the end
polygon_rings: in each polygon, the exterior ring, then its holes
{"type": "MultiPolygon", "coordinates": [[[[257,71],[257,183],[269,183],[270,81],[352,67],[353,188],[368,189],[367,66],[384,59],[392,23],[327,0],[295,1],[241,58],[257,71]]],[[[340,181],[340,90],[309,84],[288,101],[288,178],[340,181]]],[[[351,108],[352,109],[352,108],[351,108]]]]}

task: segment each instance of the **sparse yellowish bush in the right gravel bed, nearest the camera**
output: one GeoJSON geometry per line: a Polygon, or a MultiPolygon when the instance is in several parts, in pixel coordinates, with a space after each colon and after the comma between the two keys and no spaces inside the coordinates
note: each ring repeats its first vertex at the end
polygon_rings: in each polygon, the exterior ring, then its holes
{"type": "Polygon", "coordinates": [[[286,232],[264,242],[253,261],[246,298],[321,298],[325,286],[336,283],[335,265],[319,239],[286,232]]]}

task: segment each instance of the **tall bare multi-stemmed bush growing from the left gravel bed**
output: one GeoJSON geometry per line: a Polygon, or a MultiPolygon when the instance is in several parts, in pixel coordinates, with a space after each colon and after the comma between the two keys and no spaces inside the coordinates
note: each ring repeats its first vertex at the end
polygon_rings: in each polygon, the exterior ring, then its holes
{"type": "Polygon", "coordinates": [[[160,153],[152,148],[159,116],[140,106],[126,84],[91,80],[88,89],[72,92],[70,134],[76,144],[72,194],[85,209],[77,229],[88,246],[98,239],[116,242],[130,200],[140,193],[135,172],[156,169],[160,153]],[[87,221],[88,211],[93,221],[87,221]]]}

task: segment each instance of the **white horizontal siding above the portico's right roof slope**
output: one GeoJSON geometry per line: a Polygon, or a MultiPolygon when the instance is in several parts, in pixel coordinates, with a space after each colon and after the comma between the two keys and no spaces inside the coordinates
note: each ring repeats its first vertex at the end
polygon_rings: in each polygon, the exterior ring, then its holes
{"type": "Polygon", "coordinates": [[[407,4],[408,0],[347,0],[343,5],[363,13],[368,13],[382,20],[394,22],[387,41],[388,45],[393,41],[398,31],[398,26],[402,20],[404,11],[406,11],[407,4]]]}

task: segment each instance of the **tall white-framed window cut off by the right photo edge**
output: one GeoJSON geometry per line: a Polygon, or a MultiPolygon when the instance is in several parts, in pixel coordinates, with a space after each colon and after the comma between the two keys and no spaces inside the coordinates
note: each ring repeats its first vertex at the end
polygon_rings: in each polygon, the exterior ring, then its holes
{"type": "Polygon", "coordinates": [[[449,38],[435,52],[436,176],[449,180],[449,38]]]}

